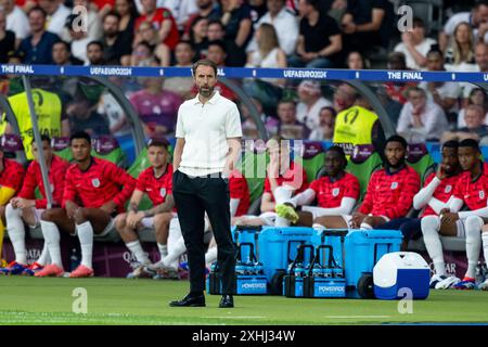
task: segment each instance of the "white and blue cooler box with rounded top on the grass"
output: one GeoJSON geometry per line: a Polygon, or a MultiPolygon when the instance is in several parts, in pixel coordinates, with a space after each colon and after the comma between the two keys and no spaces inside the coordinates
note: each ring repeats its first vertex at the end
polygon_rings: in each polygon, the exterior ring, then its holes
{"type": "Polygon", "coordinates": [[[407,288],[413,299],[428,296],[431,268],[413,252],[385,254],[373,269],[374,295],[378,299],[401,299],[407,288]],[[399,293],[400,291],[400,293],[399,293]]]}

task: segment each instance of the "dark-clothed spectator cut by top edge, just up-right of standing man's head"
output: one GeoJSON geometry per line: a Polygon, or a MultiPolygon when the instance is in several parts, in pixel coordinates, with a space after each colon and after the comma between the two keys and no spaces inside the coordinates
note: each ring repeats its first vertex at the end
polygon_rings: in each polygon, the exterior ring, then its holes
{"type": "Polygon", "coordinates": [[[228,50],[229,66],[244,66],[246,63],[245,48],[253,38],[253,22],[251,8],[239,0],[219,0],[222,16],[220,21],[226,29],[224,41],[228,50]]]}

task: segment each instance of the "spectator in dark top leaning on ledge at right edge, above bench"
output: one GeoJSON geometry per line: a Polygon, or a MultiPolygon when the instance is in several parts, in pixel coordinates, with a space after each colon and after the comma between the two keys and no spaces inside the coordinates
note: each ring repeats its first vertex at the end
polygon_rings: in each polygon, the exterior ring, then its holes
{"type": "MultiPolygon", "coordinates": [[[[462,141],[464,139],[473,139],[476,141],[483,140],[488,136],[488,127],[485,125],[486,113],[479,105],[468,105],[464,113],[465,127],[460,128],[458,131],[446,132],[442,136],[442,142],[449,140],[462,141]]],[[[487,139],[485,139],[486,141],[487,139]]]]}

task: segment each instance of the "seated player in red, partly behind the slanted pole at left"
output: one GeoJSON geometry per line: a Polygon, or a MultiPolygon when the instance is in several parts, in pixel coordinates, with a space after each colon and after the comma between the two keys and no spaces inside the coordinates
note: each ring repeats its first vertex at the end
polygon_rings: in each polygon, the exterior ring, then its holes
{"type": "MultiPolygon", "coordinates": [[[[51,190],[53,206],[59,207],[63,200],[64,179],[69,163],[52,153],[51,139],[48,136],[41,136],[41,141],[46,165],[49,170],[49,189],[51,190]]],[[[33,142],[33,154],[35,160],[27,168],[27,175],[21,192],[7,205],[7,229],[15,252],[14,262],[9,265],[9,268],[2,269],[2,272],[9,274],[34,275],[35,272],[48,265],[50,260],[48,245],[44,242],[40,257],[30,266],[27,266],[25,224],[33,229],[39,227],[40,216],[48,206],[36,142],[33,142]],[[36,189],[39,189],[42,195],[41,198],[36,198],[36,189]]]]}

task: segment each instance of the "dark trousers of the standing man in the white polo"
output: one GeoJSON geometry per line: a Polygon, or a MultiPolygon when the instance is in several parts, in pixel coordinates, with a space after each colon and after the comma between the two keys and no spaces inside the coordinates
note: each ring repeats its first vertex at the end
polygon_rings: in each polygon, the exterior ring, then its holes
{"type": "Polygon", "coordinates": [[[217,265],[222,294],[234,292],[236,249],[230,232],[230,196],[228,181],[219,176],[189,177],[177,170],[172,176],[175,198],[181,233],[188,252],[190,291],[205,290],[205,211],[217,242],[217,265]]]}

